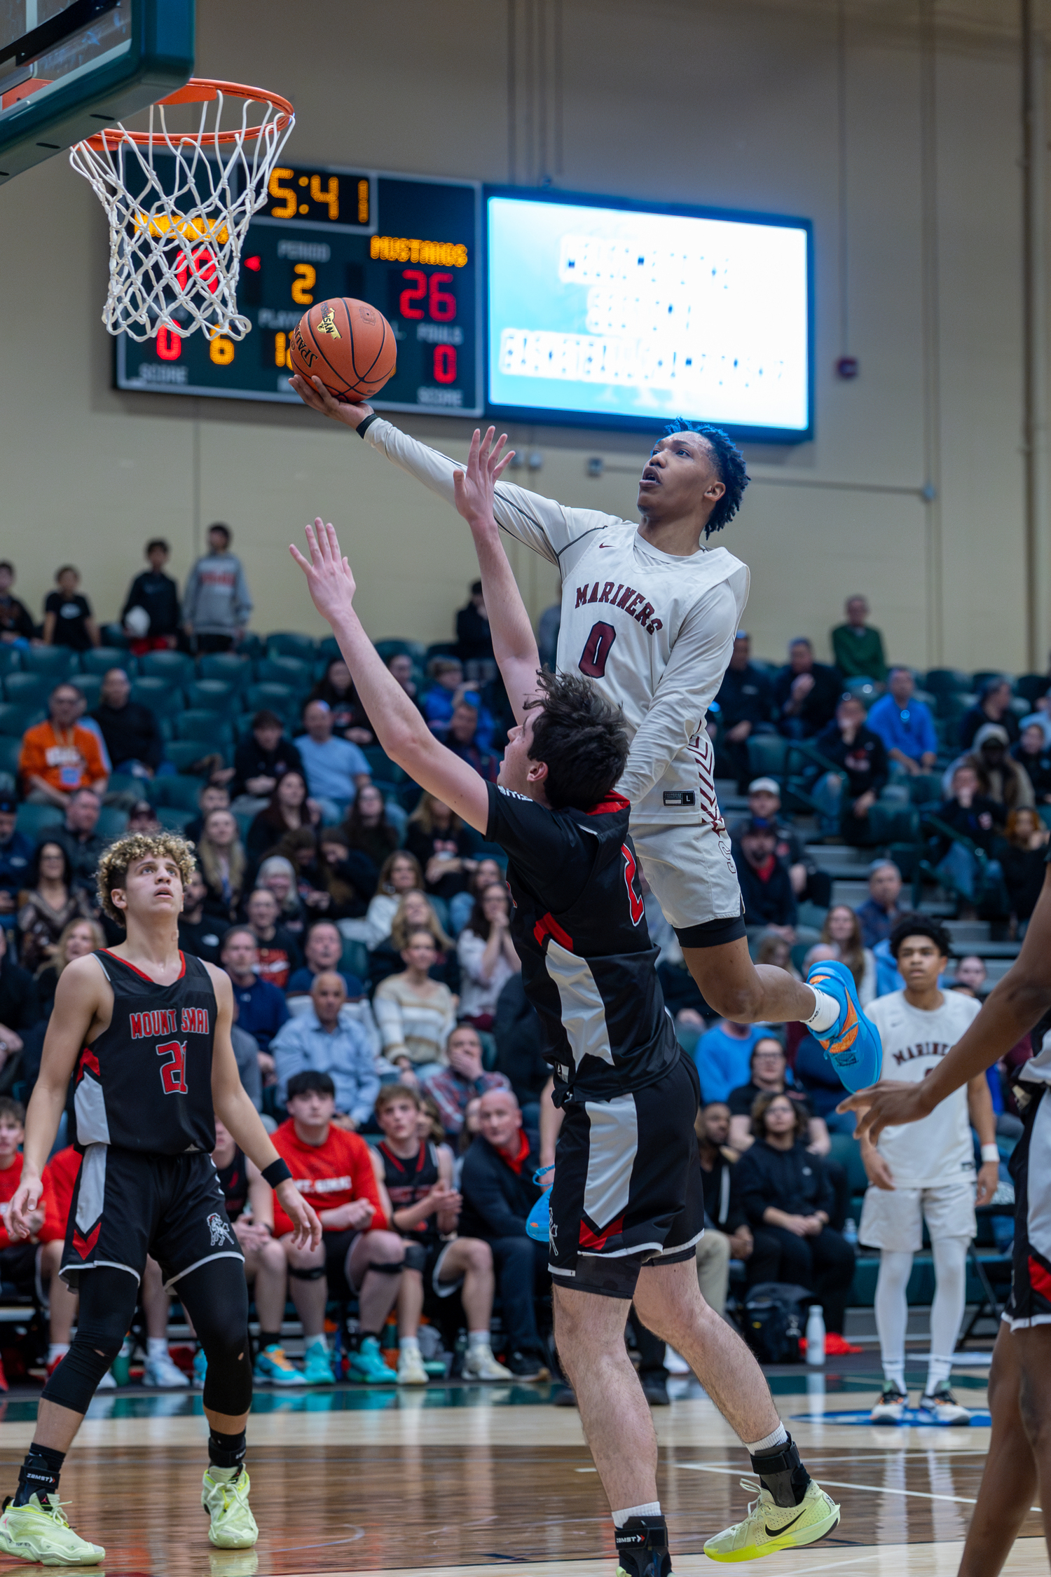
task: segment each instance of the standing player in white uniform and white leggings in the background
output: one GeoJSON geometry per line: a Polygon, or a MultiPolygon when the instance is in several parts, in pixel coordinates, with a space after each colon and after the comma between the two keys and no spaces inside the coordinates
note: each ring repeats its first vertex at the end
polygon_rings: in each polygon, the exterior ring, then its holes
{"type": "MultiPolygon", "coordinates": [[[[980,1012],[972,997],[938,986],[949,965],[949,932],[930,915],[906,915],[890,935],[890,954],[904,990],[878,997],[865,1009],[879,1030],[887,1080],[920,1083],[980,1012]]],[[[949,1389],[949,1375],[963,1320],[967,1244],[975,1233],[972,1123],[982,1143],[977,1203],[985,1205],[999,1181],[996,1117],[985,1074],[969,1079],[922,1123],[884,1128],[875,1145],[867,1135],[860,1140],[870,1187],[857,1235],[879,1249],[876,1331],[884,1386],[871,1411],[873,1424],[901,1422],[909,1402],[904,1388],[906,1287],[912,1255],[923,1244],[925,1221],[934,1255],[934,1301],[920,1413],[939,1424],[971,1421],[966,1407],[960,1407],[949,1389]]]]}

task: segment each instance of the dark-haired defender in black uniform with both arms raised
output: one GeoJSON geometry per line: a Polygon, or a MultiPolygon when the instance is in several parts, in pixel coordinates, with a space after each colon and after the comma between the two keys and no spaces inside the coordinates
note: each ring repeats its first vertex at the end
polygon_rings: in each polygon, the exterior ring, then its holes
{"type": "Polygon", "coordinates": [[[310,560],[292,549],[329,621],[386,754],[470,826],[507,852],[512,937],[544,1022],[566,1112],[551,1192],[555,1334],[610,1498],[619,1569],[667,1577],[657,1440],[624,1345],[633,1299],[643,1323],[690,1363],[748,1445],[761,1489],[739,1523],[711,1538],[739,1561],[811,1544],[840,1509],[810,1479],[739,1336],[701,1299],[693,1118],[696,1079],[679,1055],[627,836],[613,798],[627,759],[619,716],[580,675],[537,673],[536,640],[493,520],[506,465],[476,432],[457,508],[477,549],[482,590],[517,725],[496,785],[448,751],[391,678],[355,610],[336,531],[307,527],[310,560]],[[696,1210],[696,1216],[693,1211],[696,1210]]]}

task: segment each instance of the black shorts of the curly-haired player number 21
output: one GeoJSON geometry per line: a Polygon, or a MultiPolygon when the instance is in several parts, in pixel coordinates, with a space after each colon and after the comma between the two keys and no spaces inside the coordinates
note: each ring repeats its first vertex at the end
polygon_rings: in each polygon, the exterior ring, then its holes
{"type": "Polygon", "coordinates": [[[61,1279],[76,1287],[84,1271],[106,1265],[140,1281],[150,1254],[167,1287],[210,1260],[244,1262],[211,1156],[88,1145],[72,1191],[61,1279]]]}

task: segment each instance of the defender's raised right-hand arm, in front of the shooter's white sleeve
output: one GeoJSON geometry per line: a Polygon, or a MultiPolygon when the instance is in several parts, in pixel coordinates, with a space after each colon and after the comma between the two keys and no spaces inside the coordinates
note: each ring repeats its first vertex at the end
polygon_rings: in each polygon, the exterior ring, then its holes
{"type": "Polygon", "coordinates": [[[540,656],[493,514],[496,483],[514,454],[514,449],[503,453],[506,432],[496,442],[495,437],[495,427],[490,427],[484,438],[479,429],[474,429],[466,472],[457,472],[454,476],[455,506],[471,527],[488,629],[493,637],[493,656],[503,673],[515,722],[523,722],[525,702],[540,691],[536,681],[540,656]]]}

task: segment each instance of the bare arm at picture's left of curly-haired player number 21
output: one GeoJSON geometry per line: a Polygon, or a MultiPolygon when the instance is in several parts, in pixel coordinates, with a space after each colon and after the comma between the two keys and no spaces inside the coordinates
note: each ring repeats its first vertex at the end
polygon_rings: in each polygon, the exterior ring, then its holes
{"type": "Polygon", "coordinates": [[[8,1213],[8,1233],[13,1241],[30,1233],[27,1217],[41,1197],[41,1176],[55,1143],[72,1069],[88,1042],[91,1025],[99,1016],[109,1017],[112,1000],[112,987],[93,957],[74,959],[58,978],[39,1076],[25,1113],[22,1178],[8,1213]]]}

